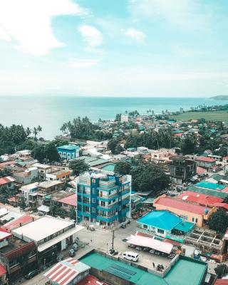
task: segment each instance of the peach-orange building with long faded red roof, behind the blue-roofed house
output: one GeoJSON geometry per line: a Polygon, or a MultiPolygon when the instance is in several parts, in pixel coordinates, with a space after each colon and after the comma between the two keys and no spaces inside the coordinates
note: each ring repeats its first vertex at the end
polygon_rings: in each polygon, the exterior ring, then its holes
{"type": "Polygon", "coordinates": [[[216,208],[208,208],[199,204],[192,204],[180,199],[175,199],[162,195],[155,199],[154,207],[158,210],[168,210],[177,214],[187,222],[197,224],[198,227],[203,227],[207,224],[207,220],[213,212],[216,212],[216,208]]]}

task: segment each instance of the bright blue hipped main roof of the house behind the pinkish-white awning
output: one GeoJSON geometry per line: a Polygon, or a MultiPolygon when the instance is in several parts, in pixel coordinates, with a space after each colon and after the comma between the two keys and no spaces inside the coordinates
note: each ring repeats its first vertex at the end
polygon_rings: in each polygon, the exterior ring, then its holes
{"type": "Polygon", "coordinates": [[[139,224],[147,224],[150,227],[156,227],[159,229],[171,230],[182,222],[182,219],[176,214],[172,214],[169,211],[152,211],[146,214],[144,217],[138,219],[139,224]]]}

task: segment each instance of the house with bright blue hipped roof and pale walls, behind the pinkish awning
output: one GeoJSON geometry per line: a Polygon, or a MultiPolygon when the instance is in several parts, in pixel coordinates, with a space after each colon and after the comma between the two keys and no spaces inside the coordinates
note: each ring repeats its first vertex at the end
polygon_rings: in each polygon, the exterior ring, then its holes
{"type": "Polygon", "coordinates": [[[185,235],[194,228],[191,222],[185,222],[177,214],[167,210],[155,210],[138,219],[138,231],[159,239],[172,239],[184,242],[185,235]]]}

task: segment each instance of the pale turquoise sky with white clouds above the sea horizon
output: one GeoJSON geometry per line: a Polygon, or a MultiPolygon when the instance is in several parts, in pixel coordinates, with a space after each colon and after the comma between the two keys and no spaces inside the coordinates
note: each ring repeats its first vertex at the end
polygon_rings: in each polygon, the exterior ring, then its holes
{"type": "Polygon", "coordinates": [[[1,0],[0,95],[227,95],[227,30],[227,0],[1,0]]]}

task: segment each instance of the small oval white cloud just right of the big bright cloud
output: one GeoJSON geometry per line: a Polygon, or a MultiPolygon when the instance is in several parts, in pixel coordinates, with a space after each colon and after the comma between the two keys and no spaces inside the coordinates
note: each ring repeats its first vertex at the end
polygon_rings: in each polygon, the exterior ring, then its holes
{"type": "Polygon", "coordinates": [[[95,48],[103,43],[102,33],[93,26],[82,25],[78,28],[78,31],[81,33],[83,41],[86,42],[88,48],[95,48]]]}

